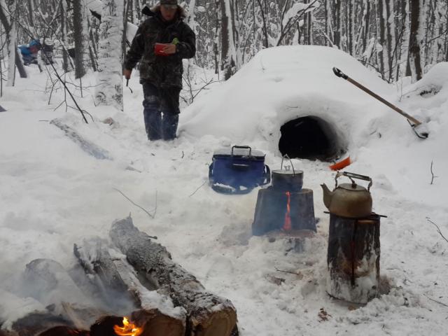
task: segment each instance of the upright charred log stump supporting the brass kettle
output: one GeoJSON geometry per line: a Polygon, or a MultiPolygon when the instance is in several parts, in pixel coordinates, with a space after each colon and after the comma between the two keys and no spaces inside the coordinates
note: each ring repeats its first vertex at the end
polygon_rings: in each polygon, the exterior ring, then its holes
{"type": "Polygon", "coordinates": [[[379,215],[345,218],[330,214],[328,293],[367,303],[379,290],[379,215]]]}

